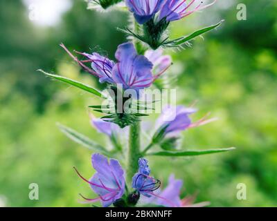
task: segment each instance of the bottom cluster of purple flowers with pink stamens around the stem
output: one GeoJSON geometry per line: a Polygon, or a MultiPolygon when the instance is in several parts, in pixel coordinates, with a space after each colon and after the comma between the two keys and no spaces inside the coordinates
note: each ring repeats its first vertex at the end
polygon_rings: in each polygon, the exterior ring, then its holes
{"type": "Polygon", "coordinates": [[[163,191],[159,191],[160,180],[150,176],[148,161],[144,158],[139,159],[139,171],[132,178],[132,193],[125,188],[125,172],[118,160],[110,159],[100,155],[93,154],[91,162],[96,173],[87,180],[77,169],[79,177],[89,184],[91,189],[98,194],[98,198],[86,198],[80,194],[84,200],[82,203],[93,203],[100,201],[102,206],[136,205],[140,198],[141,203],[157,204],[161,206],[184,207],[184,206],[206,206],[208,202],[192,204],[194,198],[180,199],[180,191],[183,182],[175,180],[174,175],[170,175],[168,186],[163,191]]]}

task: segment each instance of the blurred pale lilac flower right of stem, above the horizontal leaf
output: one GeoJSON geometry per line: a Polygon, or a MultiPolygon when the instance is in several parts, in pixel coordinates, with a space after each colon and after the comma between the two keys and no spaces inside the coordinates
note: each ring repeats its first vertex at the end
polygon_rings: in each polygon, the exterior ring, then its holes
{"type": "Polygon", "coordinates": [[[184,131],[192,124],[189,115],[195,112],[195,108],[167,106],[166,108],[163,108],[160,117],[157,119],[157,126],[166,126],[166,134],[184,131]]]}

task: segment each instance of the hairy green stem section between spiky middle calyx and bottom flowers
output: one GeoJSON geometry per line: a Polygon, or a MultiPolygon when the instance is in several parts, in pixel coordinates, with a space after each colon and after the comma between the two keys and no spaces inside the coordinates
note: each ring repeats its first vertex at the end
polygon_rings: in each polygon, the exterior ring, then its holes
{"type": "Polygon", "coordinates": [[[129,128],[129,150],[127,153],[127,183],[132,183],[132,177],[139,169],[140,153],[140,132],[141,126],[139,122],[129,128]]]}

